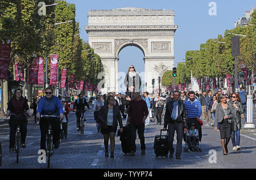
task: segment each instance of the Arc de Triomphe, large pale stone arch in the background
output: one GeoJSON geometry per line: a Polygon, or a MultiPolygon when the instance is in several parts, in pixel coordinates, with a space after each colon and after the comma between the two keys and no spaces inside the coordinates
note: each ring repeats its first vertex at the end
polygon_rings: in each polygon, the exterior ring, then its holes
{"type": "MultiPolygon", "coordinates": [[[[155,89],[158,88],[158,77],[174,66],[174,33],[177,30],[174,15],[173,10],[134,7],[89,11],[85,30],[90,46],[104,65],[103,94],[118,93],[118,54],[129,45],[141,49],[144,55],[143,76],[147,87],[142,90],[152,93],[153,78],[155,89]]],[[[161,89],[162,92],[166,90],[162,85],[161,89]]]]}

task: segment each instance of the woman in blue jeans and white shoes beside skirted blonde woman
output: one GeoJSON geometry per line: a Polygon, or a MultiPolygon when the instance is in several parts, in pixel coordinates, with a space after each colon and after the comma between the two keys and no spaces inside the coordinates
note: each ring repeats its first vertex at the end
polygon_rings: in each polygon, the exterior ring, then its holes
{"type": "Polygon", "coordinates": [[[235,107],[236,110],[236,116],[233,119],[233,122],[231,124],[231,140],[233,144],[232,150],[240,150],[240,129],[242,127],[241,124],[241,114],[243,114],[243,106],[241,103],[241,99],[239,97],[239,94],[233,93],[231,95],[231,101],[230,103],[235,107]],[[235,137],[236,136],[236,137],[235,137]]]}

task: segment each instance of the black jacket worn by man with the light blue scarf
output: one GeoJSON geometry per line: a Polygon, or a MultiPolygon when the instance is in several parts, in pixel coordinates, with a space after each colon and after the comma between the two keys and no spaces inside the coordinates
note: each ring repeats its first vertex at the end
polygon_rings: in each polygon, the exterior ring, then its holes
{"type": "MultiPolygon", "coordinates": [[[[187,114],[185,110],[185,104],[179,99],[179,107],[176,121],[184,123],[184,128],[187,128],[187,114]]],[[[170,101],[166,104],[166,114],[164,115],[164,128],[167,128],[168,123],[173,123],[172,120],[172,109],[174,108],[174,101],[170,101]]]]}

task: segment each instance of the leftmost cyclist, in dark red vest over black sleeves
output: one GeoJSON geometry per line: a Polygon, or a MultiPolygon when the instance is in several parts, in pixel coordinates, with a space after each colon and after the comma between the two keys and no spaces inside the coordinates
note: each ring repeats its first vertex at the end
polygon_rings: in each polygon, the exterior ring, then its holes
{"type": "Polygon", "coordinates": [[[22,90],[16,89],[15,95],[8,102],[7,114],[6,114],[6,117],[8,117],[10,114],[15,114],[15,115],[11,115],[9,120],[10,153],[14,152],[15,133],[16,133],[16,128],[18,124],[20,125],[22,148],[26,148],[25,141],[27,136],[27,118],[26,118],[26,115],[24,115],[24,112],[27,112],[29,116],[32,116],[28,107],[27,99],[25,99],[22,96],[22,90]]]}

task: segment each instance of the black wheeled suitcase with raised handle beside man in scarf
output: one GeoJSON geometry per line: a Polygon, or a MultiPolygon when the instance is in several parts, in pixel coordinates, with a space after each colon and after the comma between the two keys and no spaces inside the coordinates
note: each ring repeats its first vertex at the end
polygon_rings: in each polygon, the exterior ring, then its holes
{"type": "Polygon", "coordinates": [[[168,149],[168,131],[166,135],[162,135],[163,129],[160,130],[160,135],[155,136],[154,141],[154,150],[155,157],[158,156],[166,156],[168,157],[169,149],[168,149]]]}

